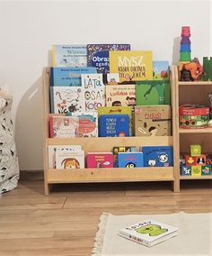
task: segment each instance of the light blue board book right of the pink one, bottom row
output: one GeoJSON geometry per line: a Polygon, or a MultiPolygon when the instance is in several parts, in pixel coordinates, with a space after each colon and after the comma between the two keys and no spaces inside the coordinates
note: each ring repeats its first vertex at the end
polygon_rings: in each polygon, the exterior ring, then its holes
{"type": "Polygon", "coordinates": [[[119,168],[144,167],[143,152],[119,152],[118,166],[119,168]]]}

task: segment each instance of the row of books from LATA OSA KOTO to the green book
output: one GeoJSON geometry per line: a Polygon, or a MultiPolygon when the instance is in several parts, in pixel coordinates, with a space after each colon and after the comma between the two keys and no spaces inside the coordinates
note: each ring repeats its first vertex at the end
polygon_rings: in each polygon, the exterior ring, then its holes
{"type": "MultiPolygon", "coordinates": [[[[115,75],[110,80],[116,81],[115,75]]],[[[170,105],[170,81],[105,85],[102,74],[83,74],[80,86],[50,87],[52,114],[93,112],[101,106],[135,105],[170,105]]]]}

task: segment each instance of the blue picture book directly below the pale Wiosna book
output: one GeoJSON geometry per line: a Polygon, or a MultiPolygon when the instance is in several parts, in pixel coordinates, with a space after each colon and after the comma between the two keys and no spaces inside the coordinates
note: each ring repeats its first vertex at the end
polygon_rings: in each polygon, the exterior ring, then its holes
{"type": "Polygon", "coordinates": [[[94,73],[93,67],[50,68],[50,87],[81,87],[81,75],[94,73]]]}

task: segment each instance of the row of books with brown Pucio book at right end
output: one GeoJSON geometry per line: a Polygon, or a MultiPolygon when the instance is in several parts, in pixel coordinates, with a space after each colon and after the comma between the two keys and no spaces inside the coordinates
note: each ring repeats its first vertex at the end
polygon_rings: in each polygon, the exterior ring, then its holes
{"type": "Polygon", "coordinates": [[[49,115],[49,137],[170,136],[171,106],[104,106],[98,112],[49,115]]]}

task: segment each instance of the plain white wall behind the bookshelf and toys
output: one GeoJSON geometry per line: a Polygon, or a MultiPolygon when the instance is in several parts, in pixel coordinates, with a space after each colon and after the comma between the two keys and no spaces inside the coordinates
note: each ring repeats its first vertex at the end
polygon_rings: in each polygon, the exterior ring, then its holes
{"type": "Polygon", "coordinates": [[[43,166],[41,72],[53,43],[127,42],[176,64],[182,25],[192,57],[209,56],[209,23],[209,1],[0,1],[0,86],[13,91],[21,169],[43,166]]]}

